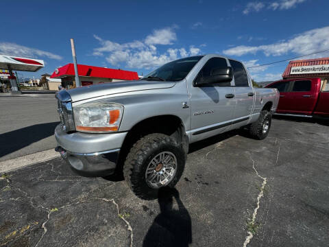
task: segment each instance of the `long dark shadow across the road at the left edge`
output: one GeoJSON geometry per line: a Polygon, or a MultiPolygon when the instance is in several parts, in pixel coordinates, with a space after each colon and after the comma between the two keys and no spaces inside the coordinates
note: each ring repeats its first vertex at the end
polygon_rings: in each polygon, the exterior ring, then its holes
{"type": "Polygon", "coordinates": [[[60,122],[35,124],[0,134],[0,157],[25,148],[26,146],[51,137],[60,122]]]}

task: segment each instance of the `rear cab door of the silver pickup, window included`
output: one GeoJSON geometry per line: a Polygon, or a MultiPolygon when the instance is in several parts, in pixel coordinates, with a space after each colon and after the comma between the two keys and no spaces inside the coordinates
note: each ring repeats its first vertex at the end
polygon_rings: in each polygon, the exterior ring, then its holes
{"type": "Polygon", "coordinates": [[[247,71],[241,62],[230,60],[230,65],[233,69],[234,75],[234,96],[236,99],[236,106],[234,110],[234,124],[231,128],[239,128],[247,124],[252,113],[254,105],[254,89],[248,81],[247,71]]]}

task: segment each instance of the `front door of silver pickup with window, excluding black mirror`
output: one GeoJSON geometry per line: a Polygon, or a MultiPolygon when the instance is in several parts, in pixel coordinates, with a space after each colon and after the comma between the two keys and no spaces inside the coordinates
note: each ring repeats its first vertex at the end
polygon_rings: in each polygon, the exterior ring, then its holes
{"type": "Polygon", "coordinates": [[[193,82],[188,82],[191,99],[191,141],[199,141],[228,128],[236,100],[231,82],[197,86],[195,82],[212,76],[212,71],[228,67],[226,58],[212,57],[199,70],[193,82]]]}

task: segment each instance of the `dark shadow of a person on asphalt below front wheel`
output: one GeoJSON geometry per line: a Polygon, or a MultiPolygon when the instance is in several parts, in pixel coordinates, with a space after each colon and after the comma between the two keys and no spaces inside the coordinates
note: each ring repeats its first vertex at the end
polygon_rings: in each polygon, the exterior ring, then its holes
{"type": "Polygon", "coordinates": [[[188,246],[192,243],[191,216],[175,188],[161,188],[158,193],[160,213],[143,240],[143,247],[188,246]],[[173,198],[178,209],[173,209],[173,198]]]}

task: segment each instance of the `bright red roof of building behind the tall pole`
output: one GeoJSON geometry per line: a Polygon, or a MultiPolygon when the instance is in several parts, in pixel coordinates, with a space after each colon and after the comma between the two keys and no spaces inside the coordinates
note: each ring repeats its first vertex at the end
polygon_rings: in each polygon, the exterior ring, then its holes
{"type": "MultiPolygon", "coordinates": [[[[112,78],[118,80],[138,80],[138,74],[134,71],[124,71],[121,69],[108,69],[103,67],[95,67],[83,64],[77,64],[77,72],[80,76],[89,76],[94,78],[112,78]]],[[[63,78],[66,76],[74,76],[74,65],[69,63],[56,69],[51,78],[63,78]]]]}

